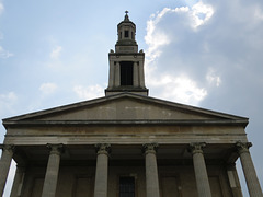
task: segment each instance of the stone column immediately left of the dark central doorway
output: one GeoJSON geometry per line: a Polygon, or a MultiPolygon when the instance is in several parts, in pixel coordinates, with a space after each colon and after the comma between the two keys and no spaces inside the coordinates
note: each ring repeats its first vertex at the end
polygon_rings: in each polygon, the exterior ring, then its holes
{"type": "Polygon", "coordinates": [[[106,143],[95,144],[96,172],[94,197],[107,197],[107,165],[111,146],[106,143]]]}

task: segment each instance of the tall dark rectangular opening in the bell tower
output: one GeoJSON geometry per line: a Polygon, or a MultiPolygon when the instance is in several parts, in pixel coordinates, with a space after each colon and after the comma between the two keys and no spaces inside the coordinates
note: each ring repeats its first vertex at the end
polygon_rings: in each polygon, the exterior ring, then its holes
{"type": "Polygon", "coordinates": [[[121,85],[134,84],[134,62],[121,61],[121,85]]]}

